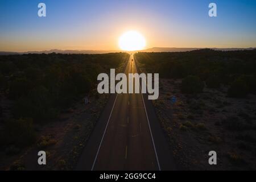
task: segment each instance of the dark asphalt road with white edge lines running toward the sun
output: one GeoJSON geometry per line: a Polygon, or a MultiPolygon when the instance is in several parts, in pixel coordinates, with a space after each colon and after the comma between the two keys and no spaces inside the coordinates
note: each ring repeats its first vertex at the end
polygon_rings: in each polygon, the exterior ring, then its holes
{"type": "MultiPolygon", "coordinates": [[[[125,73],[136,72],[131,55],[125,73]]],[[[172,153],[147,94],[110,96],[75,169],[175,169],[172,153]]]]}

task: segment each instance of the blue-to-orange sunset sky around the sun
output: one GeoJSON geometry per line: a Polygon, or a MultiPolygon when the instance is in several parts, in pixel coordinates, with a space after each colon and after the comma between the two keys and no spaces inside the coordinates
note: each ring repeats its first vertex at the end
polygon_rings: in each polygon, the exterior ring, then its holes
{"type": "Polygon", "coordinates": [[[146,48],[256,47],[255,22],[255,0],[0,0],[0,51],[117,50],[129,30],[146,48]],[[208,15],[211,2],[217,17],[208,15]]]}

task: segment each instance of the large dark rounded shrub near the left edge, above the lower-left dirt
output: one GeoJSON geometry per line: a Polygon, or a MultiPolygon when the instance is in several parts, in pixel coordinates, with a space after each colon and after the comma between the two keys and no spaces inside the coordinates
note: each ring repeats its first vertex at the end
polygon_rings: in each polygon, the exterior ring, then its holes
{"type": "Polygon", "coordinates": [[[31,118],[10,119],[3,130],[5,144],[24,147],[35,142],[36,134],[31,118]]]}

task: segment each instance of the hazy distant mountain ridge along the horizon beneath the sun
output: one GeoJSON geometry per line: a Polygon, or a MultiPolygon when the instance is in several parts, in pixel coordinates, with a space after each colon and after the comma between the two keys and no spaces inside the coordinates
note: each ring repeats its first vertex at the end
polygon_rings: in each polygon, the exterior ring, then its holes
{"type": "MultiPolygon", "coordinates": [[[[195,51],[205,48],[177,48],[177,47],[153,47],[144,49],[141,51],[132,51],[132,52],[186,52],[186,51],[195,51]]],[[[253,50],[255,47],[250,48],[209,48],[216,51],[238,51],[238,50],[253,50]]],[[[0,55],[22,55],[28,53],[63,53],[63,54],[98,54],[98,53],[114,53],[114,52],[125,52],[118,50],[61,50],[61,49],[51,49],[46,51],[27,51],[27,52],[9,52],[9,51],[0,51],[0,55]]]]}

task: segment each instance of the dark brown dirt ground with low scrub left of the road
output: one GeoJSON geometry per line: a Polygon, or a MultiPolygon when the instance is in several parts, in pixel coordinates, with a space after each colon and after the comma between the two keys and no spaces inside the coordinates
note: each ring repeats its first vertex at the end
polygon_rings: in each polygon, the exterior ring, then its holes
{"type": "Polygon", "coordinates": [[[88,105],[81,101],[63,111],[57,121],[36,125],[38,141],[17,155],[10,156],[1,151],[0,169],[72,169],[107,100],[106,94],[97,99],[90,97],[88,105]],[[37,164],[38,156],[35,154],[40,150],[47,154],[45,167],[37,164]]]}

